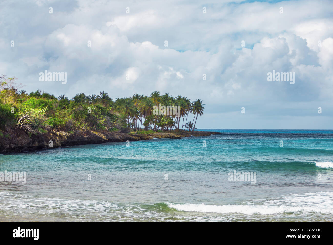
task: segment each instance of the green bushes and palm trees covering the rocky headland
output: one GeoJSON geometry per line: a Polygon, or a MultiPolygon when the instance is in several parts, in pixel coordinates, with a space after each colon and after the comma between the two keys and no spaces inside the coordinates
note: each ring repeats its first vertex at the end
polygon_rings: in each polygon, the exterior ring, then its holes
{"type": "Polygon", "coordinates": [[[201,100],[191,102],[177,96],[161,95],[155,91],[150,96],[134,94],[130,98],[113,100],[108,93],[100,95],[76,94],[69,99],[64,94],[57,98],[53,94],[37,90],[27,94],[20,90],[15,78],[0,75],[0,136],[15,127],[31,133],[45,133],[59,129],[74,133],[76,130],[110,132],[137,131],[139,134],[171,130],[194,131],[198,116],[203,114],[201,100]],[[178,108],[179,117],[163,106],[178,108]],[[156,107],[160,106],[158,113],[156,107]],[[154,112],[154,113],[153,113],[154,112]],[[192,114],[193,122],[187,122],[192,114]],[[144,128],[143,128],[144,127],[144,128]]]}

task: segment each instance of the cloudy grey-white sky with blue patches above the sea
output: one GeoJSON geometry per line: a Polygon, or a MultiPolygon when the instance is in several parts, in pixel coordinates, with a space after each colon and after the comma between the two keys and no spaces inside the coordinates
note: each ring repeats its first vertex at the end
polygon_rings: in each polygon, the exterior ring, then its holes
{"type": "Polygon", "coordinates": [[[28,93],[157,90],[202,100],[199,129],[333,129],[333,1],[2,0],[0,30],[0,74],[28,93]]]}

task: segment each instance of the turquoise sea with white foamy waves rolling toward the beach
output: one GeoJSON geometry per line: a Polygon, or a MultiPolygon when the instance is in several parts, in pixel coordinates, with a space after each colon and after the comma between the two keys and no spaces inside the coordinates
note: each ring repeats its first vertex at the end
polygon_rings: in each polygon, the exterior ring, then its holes
{"type": "Polygon", "coordinates": [[[0,155],[1,221],[333,221],[333,130],[206,131],[0,155]]]}

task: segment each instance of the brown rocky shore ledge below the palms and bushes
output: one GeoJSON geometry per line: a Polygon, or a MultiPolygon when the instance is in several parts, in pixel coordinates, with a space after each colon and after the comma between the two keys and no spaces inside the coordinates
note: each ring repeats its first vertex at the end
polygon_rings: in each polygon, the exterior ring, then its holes
{"type": "Polygon", "coordinates": [[[0,153],[18,153],[24,151],[58,148],[71,145],[101,144],[107,142],[126,142],[150,140],[153,138],[179,139],[189,136],[209,136],[218,132],[156,132],[150,134],[76,131],[73,133],[49,130],[46,133],[28,134],[23,129],[11,130],[0,137],[0,153]],[[52,141],[52,142],[50,142],[52,141]],[[52,146],[50,146],[52,145],[52,146]]]}

